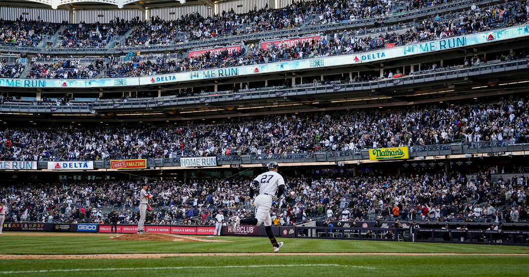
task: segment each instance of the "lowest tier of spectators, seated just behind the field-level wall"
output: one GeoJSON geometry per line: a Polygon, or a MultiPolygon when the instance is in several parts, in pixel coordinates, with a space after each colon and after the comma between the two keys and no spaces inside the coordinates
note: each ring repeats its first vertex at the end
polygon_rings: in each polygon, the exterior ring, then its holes
{"type": "MultiPolygon", "coordinates": [[[[424,220],[524,223],[529,205],[529,177],[514,174],[491,181],[491,171],[467,178],[462,173],[421,173],[401,176],[286,177],[285,195],[272,204],[275,225],[316,218],[340,221],[424,220]],[[276,220],[277,219],[277,220],[276,220]]],[[[252,213],[248,191],[251,177],[156,181],[147,222],[151,224],[212,224],[222,210],[225,218],[252,213]]],[[[58,186],[8,186],[0,189],[8,202],[10,221],[106,221],[115,209],[120,223],[137,223],[139,186],[135,181],[63,183],[58,186]]],[[[228,220],[227,220],[228,221],[228,220]]]]}

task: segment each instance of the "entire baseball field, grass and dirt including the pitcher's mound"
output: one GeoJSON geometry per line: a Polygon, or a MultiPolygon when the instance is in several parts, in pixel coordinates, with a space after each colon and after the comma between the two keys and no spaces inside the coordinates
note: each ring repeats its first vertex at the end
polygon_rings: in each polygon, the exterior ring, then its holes
{"type": "Polygon", "coordinates": [[[1,276],[528,276],[529,246],[4,233],[1,276]]]}

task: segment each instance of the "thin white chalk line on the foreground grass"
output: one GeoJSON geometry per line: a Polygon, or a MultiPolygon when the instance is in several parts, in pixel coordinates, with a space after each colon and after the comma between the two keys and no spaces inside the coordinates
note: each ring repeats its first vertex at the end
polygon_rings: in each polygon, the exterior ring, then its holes
{"type": "Polygon", "coordinates": [[[376,269],[375,267],[344,264],[260,264],[260,265],[221,265],[221,266],[167,266],[167,267],[114,267],[108,269],[50,269],[28,271],[0,271],[0,274],[19,273],[52,273],[52,272],[78,272],[78,271],[125,271],[125,270],[178,270],[178,269],[244,269],[256,267],[295,267],[295,266],[341,266],[357,269],[376,269]]]}

